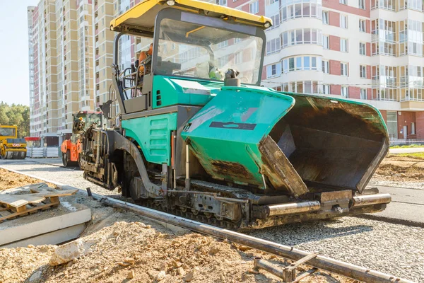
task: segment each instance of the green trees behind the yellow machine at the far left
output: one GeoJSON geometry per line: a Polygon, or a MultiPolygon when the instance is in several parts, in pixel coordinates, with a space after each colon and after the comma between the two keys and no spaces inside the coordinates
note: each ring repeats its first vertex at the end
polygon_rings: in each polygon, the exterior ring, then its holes
{"type": "Polygon", "coordinates": [[[18,137],[30,135],[30,107],[0,103],[0,125],[18,126],[18,137]]]}

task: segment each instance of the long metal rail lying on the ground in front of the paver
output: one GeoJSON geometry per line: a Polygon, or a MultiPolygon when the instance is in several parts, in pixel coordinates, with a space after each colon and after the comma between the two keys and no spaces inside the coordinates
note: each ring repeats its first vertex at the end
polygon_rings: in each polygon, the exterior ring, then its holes
{"type": "MultiPolygon", "coordinates": [[[[179,226],[185,229],[196,231],[199,233],[205,233],[216,238],[228,239],[234,243],[238,243],[243,246],[249,246],[251,248],[256,248],[257,250],[263,250],[266,253],[272,253],[274,255],[281,256],[283,258],[288,258],[290,260],[300,260],[305,258],[305,256],[310,255],[310,253],[304,250],[298,250],[290,246],[283,246],[278,243],[273,243],[266,241],[260,238],[255,238],[248,236],[242,233],[237,233],[235,231],[230,231],[226,229],[221,229],[215,226],[208,224],[200,223],[193,221],[191,219],[184,219],[179,216],[172,214],[167,214],[165,212],[160,212],[158,210],[149,209],[147,207],[140,207],[136,204],[122,202],[121,200],[113,200],[109,197],[103,195],[93,194],[93,197],[100,202],[103,202],[112,207],[119,209],[124,209],[129,212],[134,212],[142,216],[155,219],[157,221],[163,221],[168,224],[179,226]]],[[[326,270],[329,272],[334,272],[338,275],[343,275],[355,280],[362,282],[375,282],[375,283],[413,283],[408,279],[402,279],[392,275],[387,275],[382,272],[375,270],[368,270],[365,267],[360,267],[358,265],[351,265],[347,262],[342,262],[340,260],[334,260],[332,258],[326,258],[322,255],[317,255],[316,258],[309,260],[307,265],[312,267],[317,267],[321,270],[326,270]]]]}

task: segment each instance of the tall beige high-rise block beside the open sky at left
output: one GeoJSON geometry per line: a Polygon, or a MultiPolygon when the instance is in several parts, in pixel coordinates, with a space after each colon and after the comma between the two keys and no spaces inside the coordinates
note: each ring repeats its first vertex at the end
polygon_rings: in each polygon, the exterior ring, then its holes
{"type": "Polygon", "coordinates": [[[72,113],[94,108],[91,0],[42,0],[28,7],[30,134],[60,144],[72,113]]]}

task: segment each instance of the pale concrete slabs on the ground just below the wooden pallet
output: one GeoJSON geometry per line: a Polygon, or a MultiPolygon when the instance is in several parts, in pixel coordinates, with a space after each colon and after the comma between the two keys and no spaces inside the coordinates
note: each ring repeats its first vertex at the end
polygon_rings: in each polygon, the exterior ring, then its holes
{"type": "Polygon", "coordinates": [[[28,246],[28,244],[35,245],[41,242],[54,244],[69,241],[78,237],[83,231],[81,227],[90,220],[90,208],[83,204],[61,202],[58,207],[2,222],[0,248],[20,242],[28,246]],[[47,236],[46,241],[41,240],[41,235],[47,236]]]}

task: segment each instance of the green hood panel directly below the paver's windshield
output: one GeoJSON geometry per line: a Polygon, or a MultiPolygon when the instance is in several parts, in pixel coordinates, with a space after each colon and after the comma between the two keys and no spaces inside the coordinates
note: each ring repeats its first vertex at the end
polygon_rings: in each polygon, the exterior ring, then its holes
{"type": "Polygon", "coordinates": [[[205,105],[216,96],[223,83],[153,76],[153,108],[170,105],[205,105]]]}

